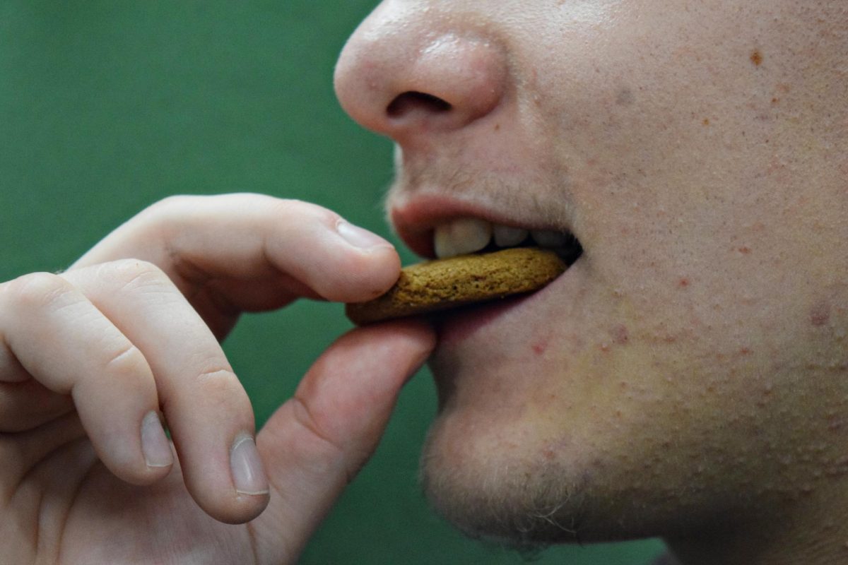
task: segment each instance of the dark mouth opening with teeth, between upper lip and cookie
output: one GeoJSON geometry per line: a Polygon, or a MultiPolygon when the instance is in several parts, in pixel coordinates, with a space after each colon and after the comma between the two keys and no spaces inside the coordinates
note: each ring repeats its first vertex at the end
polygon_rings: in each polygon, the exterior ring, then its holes
{"type": "Polygon", "coordinates": [[[522,246],[548,249],[568,265],[583,254],[580,241],[569,231],[527,230],[479,218],[453,219],[432,231],[432,249],[440,259],[522,246]]]}

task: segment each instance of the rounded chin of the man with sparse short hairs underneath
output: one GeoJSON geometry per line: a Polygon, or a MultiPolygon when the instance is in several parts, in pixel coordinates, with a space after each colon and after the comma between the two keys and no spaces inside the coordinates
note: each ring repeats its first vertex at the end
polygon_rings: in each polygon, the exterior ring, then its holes
{"type": "Polygon", "coordinates": [[[422,486],[436,512],[471,538],[514,548],[598,536],[587,498],[590,449],[575,449],[575,438],[523,411],[457,402],[452,387],[437,382],[439,414],[421,457],[422,486]]]}

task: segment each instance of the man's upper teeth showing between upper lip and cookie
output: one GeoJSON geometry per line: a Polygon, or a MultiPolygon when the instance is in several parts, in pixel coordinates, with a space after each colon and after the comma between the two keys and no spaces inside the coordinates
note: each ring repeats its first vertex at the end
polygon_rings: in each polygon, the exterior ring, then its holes
{"type": "Polygon", "coordinates": [[[484,219],[460,218],[439,225],[433,235],[433,247],[440,259],[480,251],[493,239],[500,247],[516,246],[527,235],[540,247],[561,248],[573,240],[570,235],[553,230],[523,230],[508,225],[493,225],[484,219]]]}

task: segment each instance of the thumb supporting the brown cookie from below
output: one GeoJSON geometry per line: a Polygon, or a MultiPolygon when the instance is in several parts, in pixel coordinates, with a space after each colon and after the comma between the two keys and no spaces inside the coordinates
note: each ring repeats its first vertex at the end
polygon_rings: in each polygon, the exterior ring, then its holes
{"type": "Polygon", "coordinates": [[[294,562],[365,464],[400,389],[435,346],[412,321],[358,328],[315,362],[257,437],[271,501],[254,521],[259,562],[294,562]]]}

